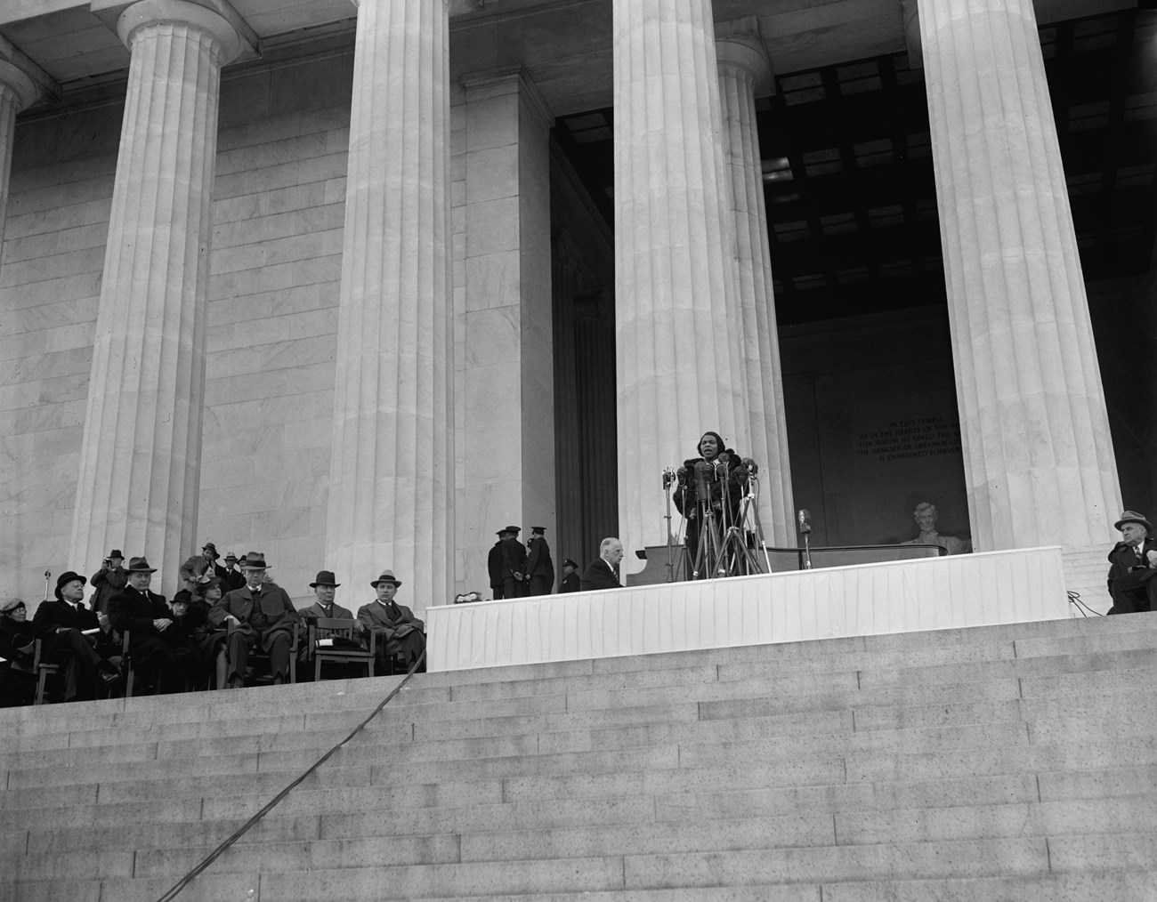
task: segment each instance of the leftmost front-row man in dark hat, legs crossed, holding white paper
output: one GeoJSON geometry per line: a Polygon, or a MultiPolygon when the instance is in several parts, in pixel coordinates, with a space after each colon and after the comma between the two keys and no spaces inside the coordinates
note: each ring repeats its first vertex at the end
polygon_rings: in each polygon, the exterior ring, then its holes
{"type": "Polygon", "coordinates": [[[44,643],[43,658],[65,665],[66,702],[95,698],[97,686],[111,687],[120,679],[110,660],[117,649],[109,637],[109,618],[84,606],[86,582],[73,570],[60,574],[56,598],[42,601],[32,618],[32,633],[44,643]]]}

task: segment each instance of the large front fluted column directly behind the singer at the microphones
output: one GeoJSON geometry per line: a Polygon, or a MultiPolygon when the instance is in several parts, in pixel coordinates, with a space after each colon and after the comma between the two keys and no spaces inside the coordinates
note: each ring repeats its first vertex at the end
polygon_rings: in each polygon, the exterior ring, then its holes
{"type": "Polygon", "coordinates": [[[619,531],[666,544],[664,467],[710,429],[749,446],[735,227],[709,0],[614,0],[619,531]]]}

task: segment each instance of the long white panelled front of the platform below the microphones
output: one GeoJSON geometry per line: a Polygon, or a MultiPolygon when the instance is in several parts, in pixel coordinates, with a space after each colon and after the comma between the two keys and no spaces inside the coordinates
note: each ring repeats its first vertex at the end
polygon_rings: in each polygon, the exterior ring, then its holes
{"type": "Polygon", "coordinates": [[[430,607],[427,668],[1061,620],[1068,607],[1061,549],[1022,548],[430,607]]]}

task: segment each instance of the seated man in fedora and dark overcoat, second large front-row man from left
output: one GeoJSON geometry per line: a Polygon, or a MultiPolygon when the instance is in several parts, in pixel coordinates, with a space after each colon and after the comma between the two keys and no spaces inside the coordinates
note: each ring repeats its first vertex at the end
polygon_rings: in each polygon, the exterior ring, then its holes
{"type": "Polygon", "coordinates": [[[134,668],[157,692],[178,693],[187,688],[193,649],[176,627],[163,596],[149,591],[155,567],[148,560],[130,557],[128,584],[109,599],[113,629],[128,630],[128,653],[134,668]]]}

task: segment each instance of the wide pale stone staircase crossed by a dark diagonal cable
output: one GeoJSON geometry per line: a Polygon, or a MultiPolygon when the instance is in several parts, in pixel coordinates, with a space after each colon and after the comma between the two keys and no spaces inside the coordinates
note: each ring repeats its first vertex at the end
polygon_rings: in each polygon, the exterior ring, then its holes
{"type": "MultiPolygon", "coordinates": [[[[1154,902],[1148,614],[415,677],[179,900],[1154,902]]],[[[0,711],[0,900],[156,900],[398,678],[0,711]]]]}

